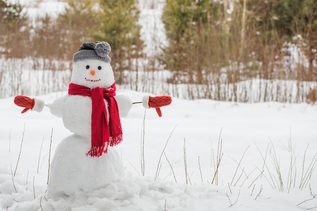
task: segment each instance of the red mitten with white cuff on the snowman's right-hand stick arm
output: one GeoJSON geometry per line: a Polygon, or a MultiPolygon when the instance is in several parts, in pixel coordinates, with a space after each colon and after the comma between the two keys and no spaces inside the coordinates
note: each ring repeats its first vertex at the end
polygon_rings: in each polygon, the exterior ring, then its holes
{"type": "Polygon", "coordinates": [[[145,108],[155,108],[157,114],[159,116],[162,116],[162,112],[160,107],[167,106],[172,103],[172,98],[170,96],[157,96],[157,97],[151,97],[151,96],[144,96],[142,99],[142,104],[145,108]]]}

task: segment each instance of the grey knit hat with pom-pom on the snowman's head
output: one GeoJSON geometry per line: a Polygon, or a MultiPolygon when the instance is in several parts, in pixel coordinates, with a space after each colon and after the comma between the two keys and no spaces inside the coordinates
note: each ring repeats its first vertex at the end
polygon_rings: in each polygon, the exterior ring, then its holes
{"type": "Polygon", "coordinates": [[[111,62],[108,56],[111,47],[108,43],[96,41],[95,43],[83,43],[78,52],[73,55],[72,61],[84,59],[98,59],[104,62],[111,62]]]}

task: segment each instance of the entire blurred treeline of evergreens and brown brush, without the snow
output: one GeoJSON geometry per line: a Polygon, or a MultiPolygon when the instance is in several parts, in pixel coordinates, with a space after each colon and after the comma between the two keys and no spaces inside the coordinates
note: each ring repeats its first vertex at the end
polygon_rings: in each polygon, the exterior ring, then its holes
{"type": "Polygon", "coordinates": [[[32,58],[58,70],[53,61],[69,61],[70,67],[83,42],[105,40],[119,84],[125,82],[124,71],[138,71],[139,59],[163,65],[173,84],[220,89],[254,78],[317,81],[315,0],[166,0],[162,21],[168,46],[161,45],[155,58],[143,51],[136,0],[67,2],[57,18],[30,20],[19,3],[0,0],[1,55],[32,58]]]}

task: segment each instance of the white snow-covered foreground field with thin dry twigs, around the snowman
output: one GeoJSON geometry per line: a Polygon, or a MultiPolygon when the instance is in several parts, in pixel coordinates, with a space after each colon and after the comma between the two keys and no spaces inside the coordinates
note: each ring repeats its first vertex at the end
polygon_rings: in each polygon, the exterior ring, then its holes
{"type": "MultiPolygon", "coordinates": [[[[63,94],[36,97],[49,103],[63,94]]],[[[118,94],[136,102],[145,93],[118,94]]],[[[48,108],[21,114],[13,97],[0,105],[1,210],[317,210],[316,106],[174,98],[160,118],[136,104],[122,119],[124,141],[115,147],[127,176],[103,189],[51,199],[49,160],[70,132],[48,108]]]]}

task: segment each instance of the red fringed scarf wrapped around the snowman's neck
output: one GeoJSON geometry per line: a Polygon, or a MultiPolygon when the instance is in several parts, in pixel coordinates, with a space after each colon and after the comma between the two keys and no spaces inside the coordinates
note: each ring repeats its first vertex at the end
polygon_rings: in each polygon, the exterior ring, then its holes
{"type": "Polygon", "coordinates": [[[91,149],[86,155],[99,157],[107,153],[108,146],[117,145],[122,141],[122,129],[115,96],[115,82],[108,89],[94,88],[69,84],[69,95],[84,95],[91,97],[91,149]],[[103,98],[108,102],[109,122],[103,98]]]}

